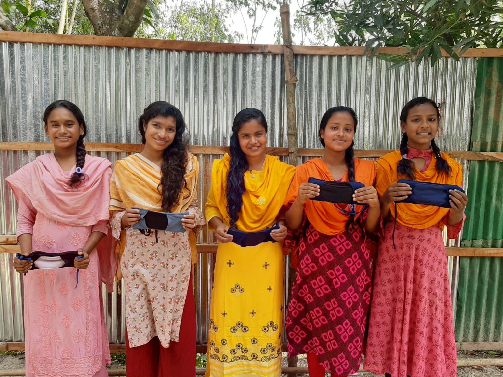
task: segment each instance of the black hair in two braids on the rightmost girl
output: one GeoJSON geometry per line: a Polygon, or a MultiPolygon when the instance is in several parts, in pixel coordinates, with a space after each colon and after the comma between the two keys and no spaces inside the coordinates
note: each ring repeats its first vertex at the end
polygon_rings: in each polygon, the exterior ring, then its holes
{"type": "MultiPolygon", "coordinates": [[[[412,109],[414,106],[417,105],[422,105],[422,104],[431,104],[435,110],[437,111],[437,119],[438,122],[440,122],[440,104],[437,104],[435,101],[430,100],[427,97],[416,97],[410,100],[405,104],[405,106],[402,109],[402,112],[400,113],[400,123],[406,123],[407,122],[407,117],[409,110],[412,109]]],[[[402,155],[401,160],[398,162],[398,166],[396,167],[396,172],[398,175],[403,175],[405,177],[408,177],[410,179],[415,179],[415,174],[414,174],[414,163],[412,162],[411,159],[407,158],[407,143],[408,143],[408,137],[407,133],[403,132],[402,133],[402,141],[400,143],[400,153],[402,155]]],[[[437,159],[437,162],[435,163],[435,167],[437,171],[443,172],[446,174],[451,173],[451,167],[449,166],[449,163],[442,158],[442,154],[440,153],[440,148],[437,146],[435,143],[435,139],[431,141],[431,147],[433,150],[433,153],[435,155],[435,158],[437,159]]]]}

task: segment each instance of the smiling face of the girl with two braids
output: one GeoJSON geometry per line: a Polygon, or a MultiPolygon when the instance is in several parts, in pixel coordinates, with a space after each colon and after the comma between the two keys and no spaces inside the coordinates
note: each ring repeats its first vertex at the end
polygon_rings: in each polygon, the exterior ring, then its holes
{"type": "Polygon", "coordinates": [[[429,149],[430,142],[437,136],[438,127],[437,109],[430,103],[414,106],[409,110],[406,121],[401,122],[408,146],[414,149],[429,149]]]}

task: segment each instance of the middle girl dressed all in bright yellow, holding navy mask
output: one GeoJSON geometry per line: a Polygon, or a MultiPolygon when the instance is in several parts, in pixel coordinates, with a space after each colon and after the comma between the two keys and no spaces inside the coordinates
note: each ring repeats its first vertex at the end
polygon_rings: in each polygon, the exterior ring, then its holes
{"type": "Polygon", "coordinates": [[[280,210],[295,168],[266,154],[267,129],[260,110],[240,111],[232,125],[230,154],[213,163],[206,203],[206,218],[218,241],[206,369],[211,377],[281,375],[280,241],[287,229],[280,210]],[[275,223],[278,229],[256,246],[236,244],[244,234],[233,236],[229,230],[261,232],[275,223]]]}

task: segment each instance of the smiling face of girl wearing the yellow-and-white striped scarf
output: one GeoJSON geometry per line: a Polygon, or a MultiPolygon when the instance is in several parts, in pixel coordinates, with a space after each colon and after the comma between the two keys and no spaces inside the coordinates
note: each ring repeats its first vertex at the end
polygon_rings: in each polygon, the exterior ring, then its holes
{"type": "Polygon", "coordinates": [[[177,135],[177,121],[175,117],[157,116],[143,124],[145,131],[145,146],[162,152],[169,147],[177,135]]]}

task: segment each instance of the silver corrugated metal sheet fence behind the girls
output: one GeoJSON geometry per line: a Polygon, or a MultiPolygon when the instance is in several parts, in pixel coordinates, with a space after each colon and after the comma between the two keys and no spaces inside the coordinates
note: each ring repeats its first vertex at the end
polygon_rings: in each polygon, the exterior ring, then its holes
{"type": "MultiPolygon", "coordinates": [[[[86,117],[88,142],[137,143],[137,118],[155,100],[178,106],[185,115],[193,145],[228,145],[233,116],[245,107],[261,109],[268,119],[269,146],[286,147],[283,55],[218,53],[98,46],[0,43],[0,134],[2,141],[46,141],[42,113],[50,102],[75,102],[86,117]]],[[[388,70],[389,63],[365,56],[296,56],[299,147],[318,148],[321,114],[347,105],[360,118],[357,149],[394,149],[400,137],[398,115],[410,98],[424,95],[444,103],[438,144],[467,150],[474,104],[476,59],[442,59],[388,70]]],[[[1,152],[0,235],[15,233],[15,202],[5,177],[33,160],[35,152],[1,152]]],[[[37,152],[38,153],[38,152],[37,152]]],[[[112,161],[120,153],[102,153],[112,161]]],[[[208,191],[217,155],[200,155],[199,198],[208,191]]],[[[466,172],[466,168],[465,168],[466,172]]],[[[211,243],[207,231],[200,242],[211,243]]],[[[195,274],[198,342],[206,341],[214,256],[201,254],[195,274]]],[[[0,339],[23,339],[21,282],[12,256],[0,255],[0,339]]],[[[457,258],[451,257],[453,288],[457,258]]],[[[455,290],[454,290],[455,291],[455,290]]],[[[124,300],[105,295],[111,342],[124,342],[124,300]]]]}

